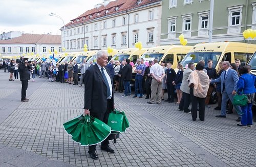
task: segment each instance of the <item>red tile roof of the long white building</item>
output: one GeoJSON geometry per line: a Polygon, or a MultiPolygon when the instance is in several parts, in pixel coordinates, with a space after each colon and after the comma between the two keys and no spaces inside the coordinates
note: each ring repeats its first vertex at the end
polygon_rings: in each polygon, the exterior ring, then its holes
{"type": "Polygon", "coordinates": [[[126,10],[135,9],[135,8],[147,5],[147,4],[156,3],[156,2],[160,2],[160,1],[161,0],[143,0],[143,1],[141,1],[141,3],[139,5],[137,4],[137,2],[138,2],[137,0],[117,0],[117,1],[113,1],[113,2],[110,2],[108,5],[106,5],[105,7],[104,7],[104,5],[101,5],[99,8],[93,8],[91,10],[88,10],[88,11],[84,12],[80,16],[72,19],[65,26],[68,27],[68,26],[71,26],[71,25],[76,25],[77,23],[86,22],[86,21],[89,21],[89,20],[93,20],[95,18],[100,18],[102,16],[111,15],[111,14],[114,14],[114,13],[119,13],[119,12],[123,12],[123,11],[126,11],[126,10]],[[117,11],[115,10],[116,7],[118,7],[117,11]],[[105,12],[106,10],[109,10],[109,12],[106,13],[105,12]],[[97,15],[97,13],[99,13],[99,15],[97,15]],[[91,18],[90,18],[90,15],[92,15],[91,18]],[[85,18],[85,20],[83,18],[85,18]]]}

